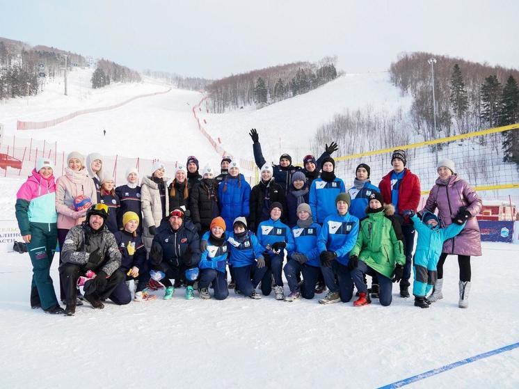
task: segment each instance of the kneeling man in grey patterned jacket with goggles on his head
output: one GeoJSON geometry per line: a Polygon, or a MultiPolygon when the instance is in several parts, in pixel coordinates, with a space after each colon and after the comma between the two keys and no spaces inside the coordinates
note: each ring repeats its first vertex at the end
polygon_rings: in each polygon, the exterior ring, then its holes
{"type": "Polygon", "coordinates": [[[77,281],[89,270],[95,273],[95,278],[86,281],[84,292],[92,308],[104,308],[101,301],[105,299],[117,305],[131,301],[124,283],[125,273],[118,270],[121,253],[115,237],[104,225],[107,211],[104,204],[93,205],[86,213],[86,221],[72,227],[65,237],[59,272],[65,289],[66,315],[76,312],[77,281]]]}

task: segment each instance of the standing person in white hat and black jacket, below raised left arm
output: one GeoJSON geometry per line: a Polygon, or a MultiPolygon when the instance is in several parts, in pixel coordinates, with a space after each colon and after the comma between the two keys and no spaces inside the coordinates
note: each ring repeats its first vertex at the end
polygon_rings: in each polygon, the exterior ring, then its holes
{"type": "Polygon", "coordinates": [[[250,191],[250,214],[248,216],[248,228],[256,232],[257,225],[270,219],[270,208],[273,203],[280,203],[283,207],[282,222],[285,223],[287,202],[285,192],[280,184],[272,180],[272,166],[264,164],[261,168],[261,180],[250,191]]]}

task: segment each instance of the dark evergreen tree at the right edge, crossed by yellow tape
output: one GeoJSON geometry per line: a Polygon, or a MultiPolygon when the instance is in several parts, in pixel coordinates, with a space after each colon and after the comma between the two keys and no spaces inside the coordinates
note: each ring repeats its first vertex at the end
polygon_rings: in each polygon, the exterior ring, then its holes
{"type": "MultiPolygon", "coordinates": [[[[519,122],[519,88],[516,79],[506,80],[501,97],[500,125],[513,125],[519,122]]],[[[503,132],[503,161],[519,164],[519,130],[503,132]]]]}

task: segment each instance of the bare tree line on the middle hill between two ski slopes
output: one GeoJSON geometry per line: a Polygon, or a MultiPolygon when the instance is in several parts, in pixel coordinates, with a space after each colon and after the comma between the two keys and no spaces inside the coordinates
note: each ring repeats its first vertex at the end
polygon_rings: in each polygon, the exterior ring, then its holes
{"type": "Polygon", "coordinates": [[[216,80],[207,86],[209,109],[223,113],[252,104],[262,108],[307,93],[337,77],[336,61],[326,57],[319,63],[287,63],[216,80]]]}

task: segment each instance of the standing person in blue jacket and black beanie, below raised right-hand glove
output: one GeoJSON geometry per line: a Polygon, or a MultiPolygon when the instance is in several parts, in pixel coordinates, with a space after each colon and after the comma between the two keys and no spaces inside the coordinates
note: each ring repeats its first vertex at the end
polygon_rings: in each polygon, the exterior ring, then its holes
{"type": "Polygon", "coordinates": [[[335,161],[331,157],[323,159],[321,177],[315,179],[310,186],[310,208],[317,223],[324,223],[328,216],[336,214],[335,198],[339,193],[346,192],[344,182],[335,177],[335,161]]]}

